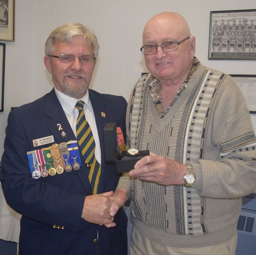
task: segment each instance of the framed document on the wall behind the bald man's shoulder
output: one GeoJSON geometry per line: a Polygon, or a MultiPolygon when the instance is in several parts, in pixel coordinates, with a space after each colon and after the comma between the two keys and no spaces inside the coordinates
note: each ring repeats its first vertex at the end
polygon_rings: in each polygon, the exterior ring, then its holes
{"type": "Polygon", "coordinates": [[[230,74],[245,96],[250,113],[256,113],[256,75],[230,74]]]}

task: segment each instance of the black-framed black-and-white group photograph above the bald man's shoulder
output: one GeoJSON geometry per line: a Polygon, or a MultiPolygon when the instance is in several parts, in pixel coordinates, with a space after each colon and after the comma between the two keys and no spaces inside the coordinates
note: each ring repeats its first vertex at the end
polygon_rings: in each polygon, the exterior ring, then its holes
{"type": "Polygon", "coordinates": [[[208,59],[256,59],[256,9],[210,11],[208,59]]]}

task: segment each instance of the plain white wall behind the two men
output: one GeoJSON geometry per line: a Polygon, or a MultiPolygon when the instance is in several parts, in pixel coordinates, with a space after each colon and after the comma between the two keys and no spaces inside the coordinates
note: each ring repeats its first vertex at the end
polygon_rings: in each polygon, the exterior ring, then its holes
{"type": "MultiPolygon", "coordinates": [[[[6,43],[4,112],[0,113],[0,155],[7,117],[12,106],[43,96],[52,88],[43,64],[44,43],[57,26],[80,22],[91,27],[100,43],[100,55],[91,88],[125,96],[141,72],[147,71],[142,30],[146,21],[162,11],[176,11],[196,36],[196,57],[228,74],[256,74],[256,61],[208,60],[210,11],[256,8],[255,0],[16,0],[15,42],[6,43]]],[[[4,42],[4,41],[3,41],[4,42]]],[[[256,130],[256,114],[252,114],[256,130]]],[[[28,123],[32,125],[32,123],[28,123]]]]}

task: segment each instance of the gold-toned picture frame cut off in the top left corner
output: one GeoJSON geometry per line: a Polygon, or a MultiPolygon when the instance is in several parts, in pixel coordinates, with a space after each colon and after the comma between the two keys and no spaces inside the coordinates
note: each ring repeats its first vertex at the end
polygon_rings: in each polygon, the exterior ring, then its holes
{"type": "Polygon", "coordinates": [[[15,0],[0,0],[0,40],[14,42],[15,0]]]}

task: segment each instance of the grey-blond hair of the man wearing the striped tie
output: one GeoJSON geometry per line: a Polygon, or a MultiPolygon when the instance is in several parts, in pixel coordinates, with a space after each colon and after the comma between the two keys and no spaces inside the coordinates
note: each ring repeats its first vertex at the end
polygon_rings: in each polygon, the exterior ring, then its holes
{"type": "Polygon", "coordinates": [[[97,58],[100,48],[97,37],[90,28],[85,27],[80,23],[69,23],[55,28],[46,40],[46,56],[51,55],[52,51],[54,50],[54,43],[57,40],[69,44],[75,36],[81,37],[85,40],[85,42],[88,42],[93,48],[94,57],[97,58]]]}

